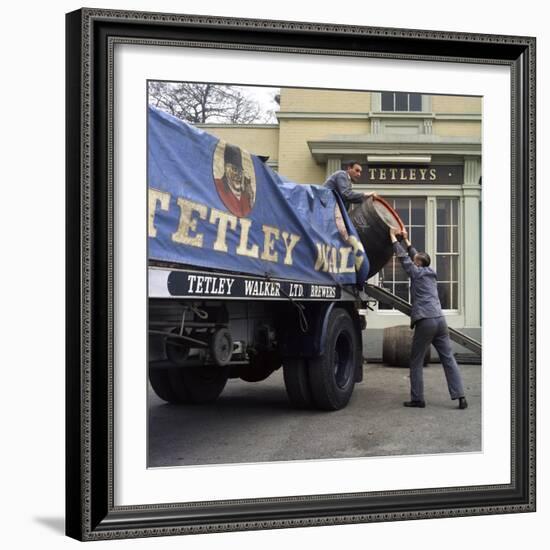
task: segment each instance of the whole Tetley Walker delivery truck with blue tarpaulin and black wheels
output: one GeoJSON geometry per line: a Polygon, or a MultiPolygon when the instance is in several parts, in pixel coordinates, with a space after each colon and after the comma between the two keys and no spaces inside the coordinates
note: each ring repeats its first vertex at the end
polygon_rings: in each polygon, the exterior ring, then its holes
{"type": "Polygon", "coordinates": [[[333,191],[264,161],[149,108],[149,380],[167,402],[282,368],[292,406],[337,410],[362,380],[361,239],[333,191]]]}

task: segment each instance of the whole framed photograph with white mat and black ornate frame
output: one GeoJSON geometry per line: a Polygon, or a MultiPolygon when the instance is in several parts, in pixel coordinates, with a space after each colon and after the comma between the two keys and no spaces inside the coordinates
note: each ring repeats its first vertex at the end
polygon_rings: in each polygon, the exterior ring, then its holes
{"type": "Polygon", "coordinates": [[[66,369],[79,540],[534,511],[535,39],[68,14],[66,369]]]}

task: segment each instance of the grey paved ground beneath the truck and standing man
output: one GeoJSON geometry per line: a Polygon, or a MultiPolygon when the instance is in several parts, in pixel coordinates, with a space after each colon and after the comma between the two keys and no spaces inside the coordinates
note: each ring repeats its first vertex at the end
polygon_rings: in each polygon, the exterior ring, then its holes
{"type": "Polygon", "coordinates": [[[481,367],[462,365],[469,408],[457,410],[439,364],[424,369],[425,409],[408,409],[408,370],[368,365],[349,405],[291,409],[282,372],[229,380],[213,405],[169,405],[149,389],[149,466],[273,462],[481,450],[481,367]]]}

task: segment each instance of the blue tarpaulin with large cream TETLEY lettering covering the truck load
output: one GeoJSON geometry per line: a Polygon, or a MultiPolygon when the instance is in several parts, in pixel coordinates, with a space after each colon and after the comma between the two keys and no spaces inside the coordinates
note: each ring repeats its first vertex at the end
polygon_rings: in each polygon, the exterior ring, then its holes
{"type": "Polygon", "coordinates": [[[369,263],[339,197],[154,107],[149,258],[311,283],[363,284],[369,263]]]}

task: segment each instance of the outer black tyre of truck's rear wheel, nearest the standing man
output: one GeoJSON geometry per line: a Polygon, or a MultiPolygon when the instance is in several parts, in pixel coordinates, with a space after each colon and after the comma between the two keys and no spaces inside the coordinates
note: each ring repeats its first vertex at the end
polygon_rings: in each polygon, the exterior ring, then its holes
{"type": "Polygon", "coordinates": [[[353,392],[357,332],[349,313],[342,308],[330,312],[325,351],[309,360],[309,380],[315,405],[335,411],[345,407],[353,392]]]}

